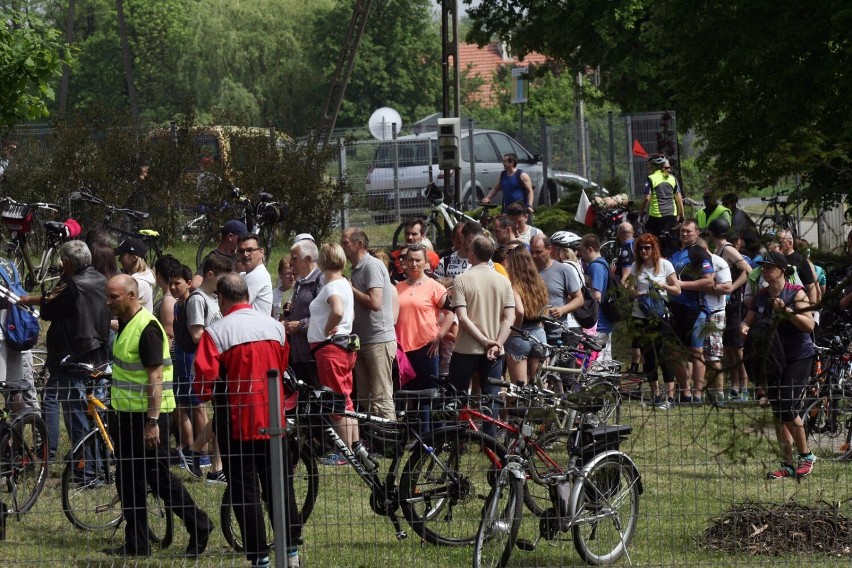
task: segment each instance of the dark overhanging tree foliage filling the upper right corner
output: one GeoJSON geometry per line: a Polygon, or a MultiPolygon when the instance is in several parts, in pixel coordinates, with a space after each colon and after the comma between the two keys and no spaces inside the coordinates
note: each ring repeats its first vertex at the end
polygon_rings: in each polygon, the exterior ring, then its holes
{"type": "Polygon", "coordinates": [[[626,111],[675,110],[725,189],[801,176],[822,206],[852,186],[852,6],[734,0],[482,0],[469,38],[494,35],[573,72],[602,70],[626,111]]]}

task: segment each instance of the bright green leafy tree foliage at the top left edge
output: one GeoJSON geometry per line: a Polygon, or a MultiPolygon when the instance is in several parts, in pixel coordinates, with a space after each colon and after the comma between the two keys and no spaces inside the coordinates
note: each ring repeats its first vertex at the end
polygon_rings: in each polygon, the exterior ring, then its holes
{"type": "Polygon", "coordinates": [[[57,30],[32,14],[0,12],[0,125],[47,116],[53,80],[67,62],[57,30]]]}

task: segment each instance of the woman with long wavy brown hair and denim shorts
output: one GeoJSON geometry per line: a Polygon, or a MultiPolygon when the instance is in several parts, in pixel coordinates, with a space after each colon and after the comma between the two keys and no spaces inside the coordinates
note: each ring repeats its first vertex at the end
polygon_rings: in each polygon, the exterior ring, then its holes
{"type": "MultiPolygon", "coordinates": [[[[516,247],[506,256],[506,270],[515,294],[515,327],[547,341],[541,314],[547,306],[547,286],[538,274],[532,256],[525,247],[516,247]]],[[[526,384],[535,374],[543,356],[536,346],[517,332],[512,332],[504,345],[506,366],[512,382],[526,384]]]]}

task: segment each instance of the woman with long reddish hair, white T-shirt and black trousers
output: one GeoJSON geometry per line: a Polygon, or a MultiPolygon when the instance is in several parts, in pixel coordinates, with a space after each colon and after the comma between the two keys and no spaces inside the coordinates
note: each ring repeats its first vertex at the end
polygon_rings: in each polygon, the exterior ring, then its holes
{"type": "Polygon", "coordinates": [[[668,294],[680,294],[680,282],[672,263],[662,258],[660,242],[651,233],[633,241],[633,264],[627,287],[635,298],[633,329],[645,360],[645,377],[654,396],[654,407],[669,410],[674,406],[674,365],[663,356],[663,345],[669,337],[666,301],[668,294]],[[657,367],[663,372],[666,393],[660,392],[657,367]]]}

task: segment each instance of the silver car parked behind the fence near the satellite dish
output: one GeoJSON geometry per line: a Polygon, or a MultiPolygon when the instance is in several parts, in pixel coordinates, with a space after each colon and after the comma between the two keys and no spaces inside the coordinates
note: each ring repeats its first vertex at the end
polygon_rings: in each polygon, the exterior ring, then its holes
{"type": "MultiPolygon", "coordinates": [[[[503,155],[518,156],[518,167],[529,174],[535,190],[535,205],[555,203],[562,195],[563,187],[569,182],[589,186],[585,178],[569,172],[550,170],[544,175],[541,156],[531,154],[521,144],[503,132],[496,130],[473,131],[473,155],[476,168],[471,179],[471,144],[469,131],[461,135],[462,204],[473,208],[488,194],[503,171],[503,155]]],[[[400,136],[396,140],[398,161],[400,213],[403,218],[423,213],[428,208],[421,190],[432,179],[439,187],[444,186],[444,172],[438,168],[438,143],[435,132],[400,136]]],[[[396,194],[394,193],[394,143],[382,142],[376,149],[373,163],[365,180],[367,204],[376,223],[396,219],[396,194]]],[[[492,201],[500,203],[498,193],[492,201]]]]}

